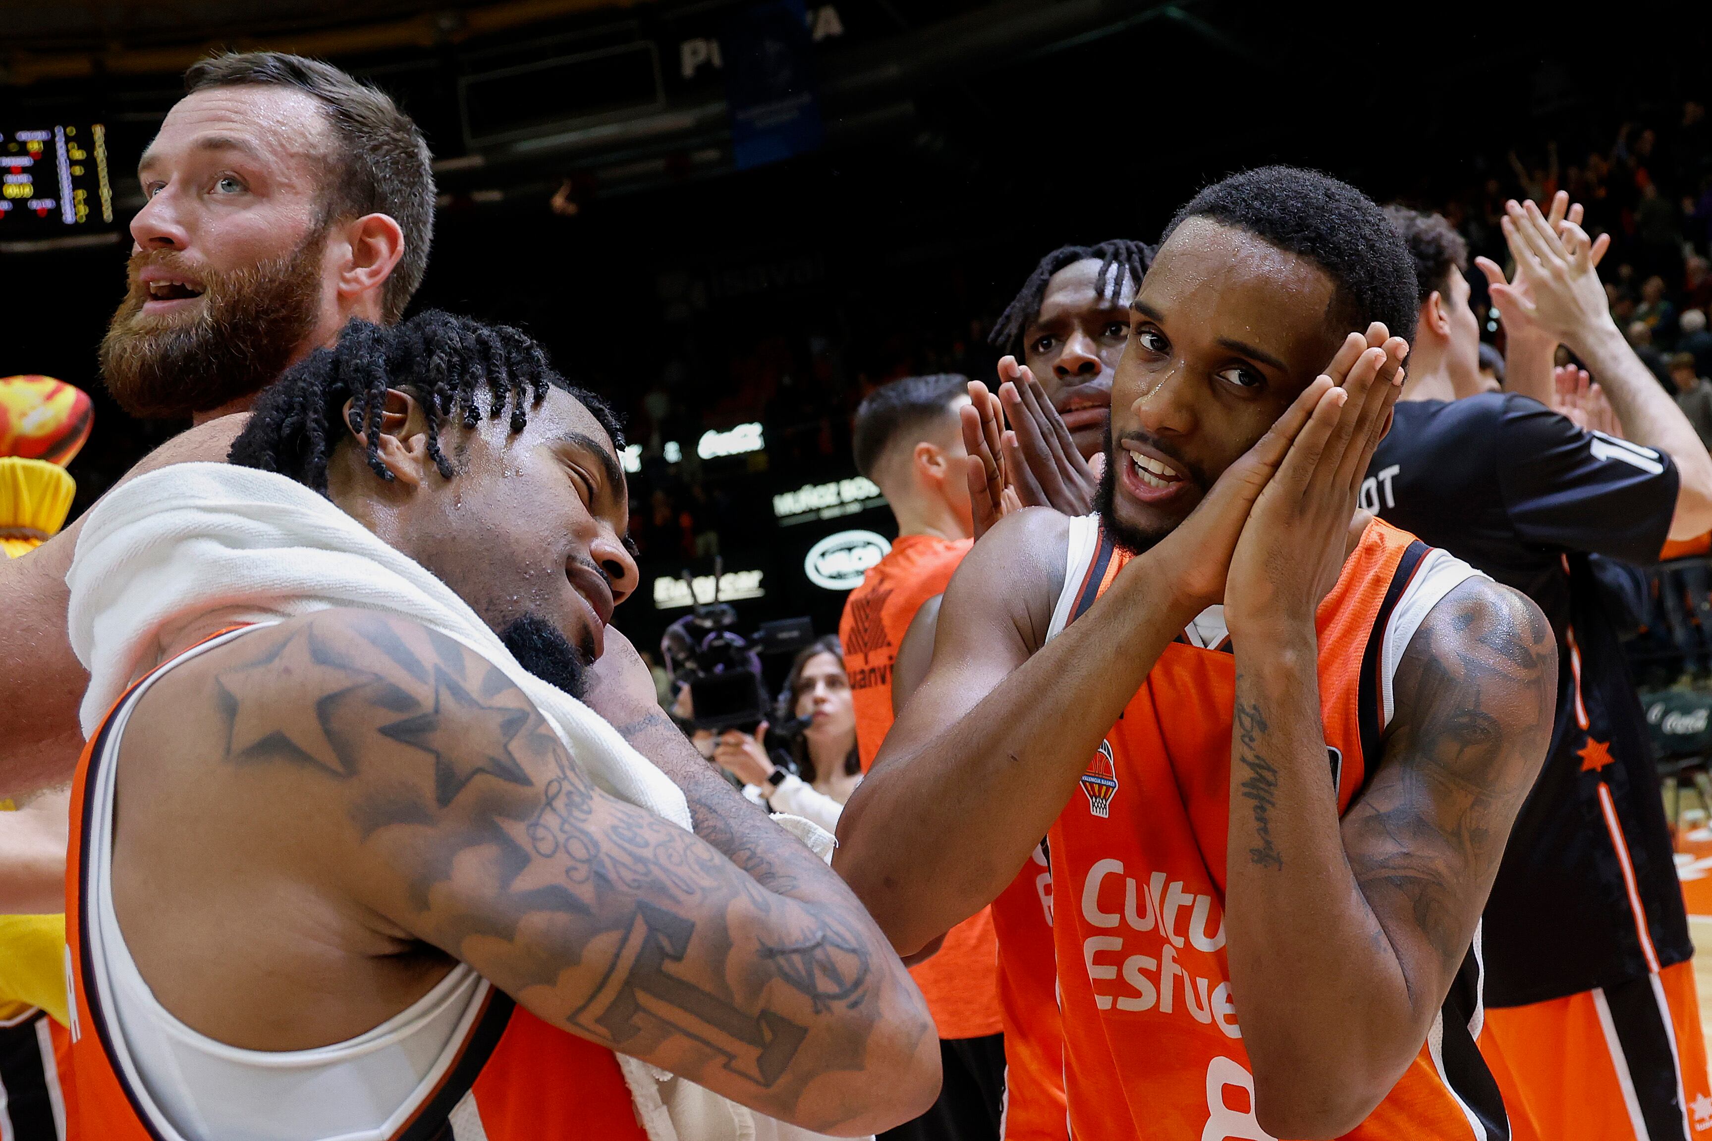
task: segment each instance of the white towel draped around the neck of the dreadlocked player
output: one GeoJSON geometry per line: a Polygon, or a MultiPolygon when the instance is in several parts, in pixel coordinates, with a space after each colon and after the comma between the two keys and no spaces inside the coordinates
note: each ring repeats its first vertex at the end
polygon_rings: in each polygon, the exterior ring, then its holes
{"type": "MultiPolygon", "coordinates": [[[[519,665],[419,563],[282,476],[228,464],[176,464],[139,476],[91,508],[65,582],[72,648],[91,674],[80,708],[86,736],[185,631],[360,607],[414,619],[493,662],[596,783],[690,828],[683,792],[594,710],[519,665]]],[[[618,1061],[652,1141],[817,1136],[623,1054],[618,1061]]]]}

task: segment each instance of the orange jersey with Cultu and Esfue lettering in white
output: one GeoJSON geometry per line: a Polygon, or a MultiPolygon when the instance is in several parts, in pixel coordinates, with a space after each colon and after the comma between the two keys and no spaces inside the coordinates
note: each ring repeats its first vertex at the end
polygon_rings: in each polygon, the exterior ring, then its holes
{"type": "MultiPolygon", "coordinates": [[[[1058,621],[1084,612],[1125,563],[1094,517],[1073,529],[1091,553],[1087,570],[1065,583],[1058,621]]],[[[1072,551],[1077,542],[1073,530],[1072,551]]],[[[1409,638],[1438,599],[1474,575],[1373,522],[1320,604],[1327,789],[1335,789],[1339,813],[1376,763],[1390,677],[1409,638]]],[[[1053,934],[1065,1086],[1079,1141],[1267,1138],[1253,1112],[1224,946],[1236,671],[1222,626],[1216,607],[1166,647],[1048,837],[1060,900],[1053,934]]],[[[1508,1138],[1498,1088],[1474,1045],[1477,949],[1476,934],[1419,1055],[1347,1136],[1508,1138]]]]}

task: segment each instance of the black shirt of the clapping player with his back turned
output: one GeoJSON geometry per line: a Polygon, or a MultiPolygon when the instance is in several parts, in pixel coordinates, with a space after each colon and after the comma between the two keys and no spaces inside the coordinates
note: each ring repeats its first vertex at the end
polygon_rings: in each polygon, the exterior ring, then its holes
{"type": "Polygon", "coordinates": [[[1486,905],[1486,1002],[1613,985],[1693,955],[1647,724],[1589,556],[1656,563],[1676,465],[1537,400],[1404,402],[1361,503],[1527,594],[1558,638],[1551,753],[1486,905]]]}

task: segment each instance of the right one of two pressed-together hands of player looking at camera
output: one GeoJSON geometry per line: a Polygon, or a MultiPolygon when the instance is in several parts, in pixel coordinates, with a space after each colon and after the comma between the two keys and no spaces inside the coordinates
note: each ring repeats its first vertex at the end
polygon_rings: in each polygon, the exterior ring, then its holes
{"type": "Polygon", "coordinates": [[[1233,638],[1258,623],[1313,631],[1315,607],[1347,556],[1361,479],[1402,392],[1407,352],[1402,337],[1375,322],[1366,337],[1349,334],[1332,358],[1323,380],[1334,387],[1255,498],[1231,556],[1224,619],[1233,638]]]}

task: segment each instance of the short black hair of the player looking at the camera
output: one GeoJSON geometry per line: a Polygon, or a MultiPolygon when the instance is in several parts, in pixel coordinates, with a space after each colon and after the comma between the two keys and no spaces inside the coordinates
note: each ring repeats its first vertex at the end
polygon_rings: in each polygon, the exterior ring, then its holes
{"type": "Polygon", "coordinates": [[[1210,217],[1323,269],[1335,286],[1327,322],[1363,332],[1383,322],[1414,339],[1414,263],[1385,212],[1349,183],[1296,166],[1260,166],[1231,174],[1188,200],[1159,245],[1192,217],[1210,217]]]}

